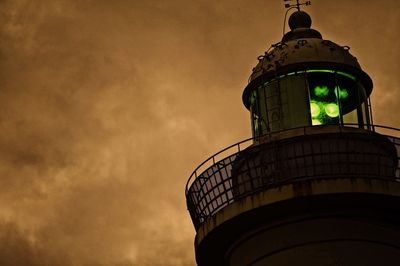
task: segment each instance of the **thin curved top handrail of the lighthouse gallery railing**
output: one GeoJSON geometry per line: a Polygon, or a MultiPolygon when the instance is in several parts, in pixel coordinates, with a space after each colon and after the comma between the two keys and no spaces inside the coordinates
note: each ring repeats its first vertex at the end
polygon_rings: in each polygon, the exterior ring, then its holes
{"type": "MultiPolygon", "coordinates": [[[[339,124],[339,125],[329,124],[329,125],[324,125],[324,126],[337,126],[338,128],[342,128],[342,127],[346,127],[346,126],[359,126],[359,124],[345,123],[345,124],[339,124]]],[[[371,127],[372,130],[366,130],[366,131],[371,131],[371,132],[376,132],[376,131],[375,131],[375,128],[383,128],[383,129],[389,129],[389,130],[394,130],[394,131],[400,132],[400,129],[399,129],[399,128],[390,127],[390,126],[383,126],[383,125],[365,125],[365,126],[371,127]]],[[[215,153],[214,155],[208,157],[208,158],[207,158],[205,161],[203,161],[199,166],[197,166],[196,169],[192,172],[192,174],[190,175],[188,181],[186,182],[185,194],[187,195],[190,184],[193,182],[194,179],[197,178],[197,176],[198,176],[198,174],[197,174],[198,170],[199,170],[200,168],[202,168],[202,167],[203,167],[207,162],[209,162],[209,161],[212,161],[212,164],[210,164],[209,167],[211,167],[212,165],[214,165],[214,164],[216,163],[215,158],[216,158],[218,155],[220,155],[221,153],[223,153],[223,152],[225,152],[225,151],[227,151],[227,150],[229,150],[229,149],[231,149],[231,148],[233,148],[233,147],[238,147],[238,148],[236,149],[236,152],[232,152],[231,154],[229,154],[229,155],[227,156],[227,157],[229,157],[229,156],[231,156],[231,155],[233,155],[233,154],[235,154],[235,153],[237,153],[237,152],[240,152],[240,151],[241,151],[241,150],[240,150],[240,145],[243,144],[243,143],[245,143],[245,142],[248,142],[248,141],[251,141],[251,140],[255,140],[255,139],[260,139],[260,138],[263,138],[263,137],[266,137],[266,136],[271,137],[272,134],[279,134],[279,133],[282,133],[282,132],[287,132],[287,131],[296,130],[296,129],[301,129],[301,128],[304,129],[304,130],[303,130],[303,131],[304,131],[304,135],[306,135],[306,128],[312,128],[312,127],[315,128],[315,127],[321,127],[321,126],[301,126],[301,127],[295,127],[295,128],[290,128],[290,129],[284,129],[284,130],[275,131],[275,132],[268,132],[268,133],[266,133],[266,134],[264,134],[264,135],[262,135],[262,136],[250,137],[250,138],[244,139],[244,140],[242,140],[242,141],[239,141],[239,142],[237,142],[237,143],[235,143],[235,144],[232,144],[232,145],[230,145],[230,146],[228,146],[228,147],[226,147],[226,148],[220,150],[219,152],[215,153]],[[193,179],[193,177],[194,177],[194,179],[193,179]]],[[[379,132],[377,132],[377,133],[379,133],[379,132]]],[[[251,145],[249,145],[249,146],[251,146],[251,145]]],[[[248,147],[249,147],[249,146],[248,146],[248,147]]],[[[225,158],[227,158],[227,157],[225,157],[225,158]]],[[[224,158],[222,158],[222,159],[224,159],[224,158]]],[[[218,160],[218,161],[219,161],[219,160],[218,160]]],[[[209,167],[207,167],[205,170],[207,170],[209,167]]],[[[204,170],[204,171],[205,171],[205,170],[204,170]]],[[[202,171],[202,173],[203,173],[204,171],[202,171]]]]}

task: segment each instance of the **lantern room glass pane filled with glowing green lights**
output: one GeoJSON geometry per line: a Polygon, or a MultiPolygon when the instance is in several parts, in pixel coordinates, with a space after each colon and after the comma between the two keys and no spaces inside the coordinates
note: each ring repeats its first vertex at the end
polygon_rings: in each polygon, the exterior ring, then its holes
{"type": "Polygon", "coordinates": [[[336,77],[333,71],[307,73],[312,125],[339,124],[340,109],[336,97],[336,77]]]}

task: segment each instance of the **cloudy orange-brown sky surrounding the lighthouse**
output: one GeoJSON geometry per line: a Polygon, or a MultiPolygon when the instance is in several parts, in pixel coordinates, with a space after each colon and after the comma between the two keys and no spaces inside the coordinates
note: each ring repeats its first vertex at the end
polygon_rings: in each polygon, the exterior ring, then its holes
{"type": "MultiPolygon", "coordinates": [[[[241,102],[280,0],[0,1],[0,265],[189,266],[184,186],[250,136],[241,102]]],[[[314,0],[400,127],[400,1],[314,0]]]]}

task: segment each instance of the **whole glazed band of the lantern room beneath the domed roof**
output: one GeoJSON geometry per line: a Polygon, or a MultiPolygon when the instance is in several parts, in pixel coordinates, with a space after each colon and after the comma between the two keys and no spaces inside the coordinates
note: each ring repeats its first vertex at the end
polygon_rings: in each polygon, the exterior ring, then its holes
{"type": "Polygon", "coordinates": [[[253,136],[319,125],[369,129],[368,97],[352,75],[307,70],[272,79],[250,94],[253,136]]]}

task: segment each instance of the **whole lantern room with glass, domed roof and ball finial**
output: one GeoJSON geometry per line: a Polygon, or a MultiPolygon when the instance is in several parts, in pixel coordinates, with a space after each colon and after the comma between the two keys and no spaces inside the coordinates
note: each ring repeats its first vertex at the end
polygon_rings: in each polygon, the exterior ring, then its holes
{"type": "Polygon", "coordinates": [[[290,16],[289,26],[258,57],[243,92],[253,136],[332,124],[369,129],[372,81],[350,48],[323,40],[303,11],[290,16]]]}

